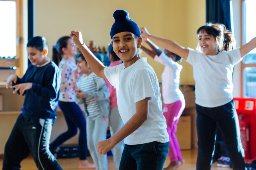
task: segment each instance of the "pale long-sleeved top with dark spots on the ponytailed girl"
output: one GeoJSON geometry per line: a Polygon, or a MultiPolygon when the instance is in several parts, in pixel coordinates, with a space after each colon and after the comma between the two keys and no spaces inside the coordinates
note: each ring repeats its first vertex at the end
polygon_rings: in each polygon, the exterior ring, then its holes
{"type": "Polygon", "coordinates": [[[59,63],[61,72],[60,96],[59,101],[75,102],[75,90],[73,82],[76,82],[74,71],[77,69],[75,59],[61,59],[59,63]]]}

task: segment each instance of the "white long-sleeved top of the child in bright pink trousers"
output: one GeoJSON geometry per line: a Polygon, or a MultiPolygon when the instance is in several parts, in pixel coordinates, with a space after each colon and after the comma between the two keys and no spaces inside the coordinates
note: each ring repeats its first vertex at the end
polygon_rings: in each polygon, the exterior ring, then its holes
{"type": "Polygon", "coordinates": [[[159,56],[156,55],[154,60],[165,66],[162,73],[162,96],[164,104],[170,104],[184,99],[184,96],[179,89],[182,65],[173,61],[164,52],[159,56]]]}

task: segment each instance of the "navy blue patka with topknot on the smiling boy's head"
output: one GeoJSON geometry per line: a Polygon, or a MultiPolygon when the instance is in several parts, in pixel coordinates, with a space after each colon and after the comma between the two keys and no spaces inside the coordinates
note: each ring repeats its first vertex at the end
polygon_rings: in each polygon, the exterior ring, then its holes
{"type": "Polygon", "coordinates": [[[116,10],[113,17],[115,18],[115,23],[112,25],[110,31],[111,39],[113,39],[115,34],[126,31],[140,37],[140,28],[131,18],[129,18],[129,13],[127,11],[121,9],[116,10]]]}

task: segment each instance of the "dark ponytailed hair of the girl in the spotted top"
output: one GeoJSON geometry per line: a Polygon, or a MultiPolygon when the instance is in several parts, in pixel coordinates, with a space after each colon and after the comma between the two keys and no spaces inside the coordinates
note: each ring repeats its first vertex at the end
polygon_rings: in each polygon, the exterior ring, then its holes
{"type": "Polygon", "coordinates": [[[62,59],[63,51],[62,48],[66,48],[68,45],[68,40],[71,39],[69,36],[64,36],[58,39],[56,45],[52,47],[52,60],[56,65],[59,65],[60,60],[62,59]]]}

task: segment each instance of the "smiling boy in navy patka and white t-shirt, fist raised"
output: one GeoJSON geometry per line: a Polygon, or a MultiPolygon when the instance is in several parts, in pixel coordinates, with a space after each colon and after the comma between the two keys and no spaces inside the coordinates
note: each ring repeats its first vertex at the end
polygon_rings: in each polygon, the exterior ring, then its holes
{"type": "Polygon", "coordinates": [[[83,43],[80,32],[70,34],[95,74],[116,88],[118,110],[125,124],[109,139],[98,142],[97,150],[106,154],[125,138],[120,170],[162,170],[169,137],[157,76],[147,59],[140,57],[138,25],[125,10],[116,10],[113,16],[111,43],[122,64],[105,67],[83,43]]]}

